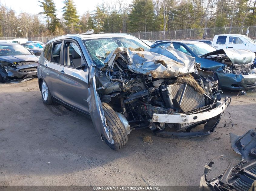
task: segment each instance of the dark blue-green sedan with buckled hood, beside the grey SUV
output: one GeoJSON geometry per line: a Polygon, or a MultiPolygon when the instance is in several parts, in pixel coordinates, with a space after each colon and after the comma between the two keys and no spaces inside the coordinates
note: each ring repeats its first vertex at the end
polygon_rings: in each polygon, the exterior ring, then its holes
{"type": "Polygon", "coordinates": [[[175,49],[193,56],[196,62],[201,63],[201,69],[215,72],[215,79],[219,81],[221,89],[256,88],[256,69],[251,69],[253,60],[255,62],[254,53],[248,50],[217,50],[206,43],[191,40],[162,41],[154,43],[151,47],[166,46],[168,43],[175,49]]]}

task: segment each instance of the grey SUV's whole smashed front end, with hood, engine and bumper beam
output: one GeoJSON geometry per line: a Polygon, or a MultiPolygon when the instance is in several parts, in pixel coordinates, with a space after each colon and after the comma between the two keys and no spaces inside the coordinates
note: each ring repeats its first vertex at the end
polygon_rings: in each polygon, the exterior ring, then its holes
{"type": "Polygon", "coordinates": [[[96,55],[105,65],[95,72],[97,91],[101,102],[118,113],[127,134],[149,127],[161,137],[207,135],[231,101],[220,101],[213,72],[171,47],[118,47],[105,56],[96,55]],[[201,131],[191,131],[201,124],[201,131]]]}

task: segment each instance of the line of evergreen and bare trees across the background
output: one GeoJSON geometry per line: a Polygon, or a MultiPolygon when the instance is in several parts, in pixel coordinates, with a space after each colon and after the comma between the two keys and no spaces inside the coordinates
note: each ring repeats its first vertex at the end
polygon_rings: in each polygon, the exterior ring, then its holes
{"type": "MultiPolygon", "coordinates": [[[[67,33],[129,33],[190,28],[256,26],[256,0],[115,0],[78,15],[73,0],[64,0],[57,18],[53,0],[41,0],[39,14],[0,5],[0,37],[43,37],[67,33]]],[[[38,7],[39,8],[39,7],[38,7]]]]}

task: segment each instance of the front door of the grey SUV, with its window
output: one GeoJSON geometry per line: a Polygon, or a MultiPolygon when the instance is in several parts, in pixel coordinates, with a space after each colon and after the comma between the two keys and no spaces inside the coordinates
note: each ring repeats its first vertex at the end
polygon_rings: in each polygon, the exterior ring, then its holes
{"type": "Polygon", "coordinates": [[[59,78],[63,87],[63,103],[81,112],[89,113],[87,103],[89,69],[81,53],[81,48],[76,41],[64,41],[64,66],[59,78]],[[82,64],[86,67],[78,69],[82,64]]]}

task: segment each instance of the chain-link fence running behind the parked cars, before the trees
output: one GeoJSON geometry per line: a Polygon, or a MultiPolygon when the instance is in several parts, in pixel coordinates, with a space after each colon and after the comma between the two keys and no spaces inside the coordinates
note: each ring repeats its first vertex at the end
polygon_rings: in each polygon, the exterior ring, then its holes
{"type": "MultiPolygon", "coordinates": [[[[246,35],[248,27],[232,27],[231,34],[246,35]]],[[[145,40],[178,40],[178,39],[212,39],[216,34],[228,34],[229,27],[222,28],[201,28],[201,29],[185,29],[185,30],[170,30],[157,32],[137,32],[128,33],[139,39],[145,40]]],[[[256,39],[256,26],[249,27],[249,37],[256,39]]],[[[28,37],[28,40],[47,42],[56,36],[49,37],[28,37]]],[[[14,37],[0,37],[0,40],[12,40],[14,37]]]]}

